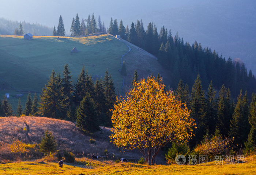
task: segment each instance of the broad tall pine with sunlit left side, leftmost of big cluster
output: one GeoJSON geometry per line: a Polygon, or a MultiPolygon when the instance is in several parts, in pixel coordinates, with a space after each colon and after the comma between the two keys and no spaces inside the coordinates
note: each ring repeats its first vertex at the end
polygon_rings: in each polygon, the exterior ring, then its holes
{"type": "Polygon", "coordinates": [[[69,103],[67,96],[63,94],[60,75],[52,71],[47,83],[40,95],[39,114],[50,118],[65,118],[69,103]]]}

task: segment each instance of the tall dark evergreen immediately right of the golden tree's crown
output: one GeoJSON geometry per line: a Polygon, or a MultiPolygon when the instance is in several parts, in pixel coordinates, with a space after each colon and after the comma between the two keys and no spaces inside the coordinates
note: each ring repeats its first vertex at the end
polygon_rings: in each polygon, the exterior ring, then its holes
{"type": "MultiPolygon", "coordinates": [[[[204,111],[205,111],[205,97],[204,97],[204,90],[202,87],[202,81],[200,80],[199,74],[195,80],[195,83],[192,86],[191,90],[191,113],[190,116],[195,119],[196,122],[196,129],[195,129],[195,138],[193,141],[200,141],[203,139],[203,135],[206,132],[207,128],[207,121],[204,118],[204,111]]],[[[195,144],[195,142],[193,142],[195,144]]],[[[193,144],[192,143],[192,144],[193,144]]]]}

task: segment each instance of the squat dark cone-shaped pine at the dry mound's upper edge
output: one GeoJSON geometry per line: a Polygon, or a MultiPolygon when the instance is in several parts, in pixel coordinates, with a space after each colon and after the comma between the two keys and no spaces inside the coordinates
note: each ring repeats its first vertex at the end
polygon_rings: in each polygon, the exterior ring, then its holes
{"type": "Polygon", "coordinates": [[[95,103],[88,93],[76,109],[76,126],[85,133],[93,133],[100,130],[95,103]]]}

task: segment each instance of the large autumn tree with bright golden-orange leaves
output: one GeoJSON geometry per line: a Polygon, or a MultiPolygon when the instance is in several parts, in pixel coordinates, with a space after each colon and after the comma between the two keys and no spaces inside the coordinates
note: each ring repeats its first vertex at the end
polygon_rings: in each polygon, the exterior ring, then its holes
{"type": "Polygon", "coordinates": [[[155,157],[168,142],[191,138],[195,122],[189,118],[185,104],[165,91],[162,81],[154,77],[134,83],[124,98],[114,105],[110,136],[117,147],[138,149],[146,164],[154,165],[155,157]]]}

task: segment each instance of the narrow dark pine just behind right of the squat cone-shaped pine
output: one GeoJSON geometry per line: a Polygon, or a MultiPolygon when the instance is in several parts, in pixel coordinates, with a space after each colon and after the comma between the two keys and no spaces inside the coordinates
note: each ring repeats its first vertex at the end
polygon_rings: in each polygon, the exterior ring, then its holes
{"type": "Polygon", "coordinates": [[[96,83],[95,83],[94,102],[95,102],[95,111],[97,113],[100,124],[101,126],[106,126],[106,115],[105,115],[106,99],[104,96],[103,81],[101,79],[96,80],[96,83]]]}

